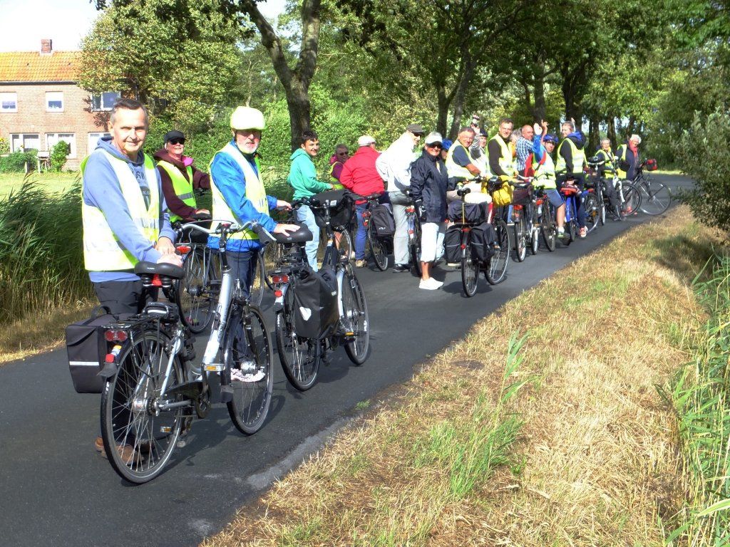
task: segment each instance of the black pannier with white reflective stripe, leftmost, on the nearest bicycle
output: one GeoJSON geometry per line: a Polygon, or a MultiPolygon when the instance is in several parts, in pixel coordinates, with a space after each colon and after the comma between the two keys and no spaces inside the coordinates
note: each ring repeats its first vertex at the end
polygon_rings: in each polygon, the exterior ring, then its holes
{"type": "Polygon", "coordinates": [[[69,354],[69,371],[77,393],[101,393],[104,377],[99,372],[104,367],[109,343],[104,337],[107,326],[118,321],[118,316],[106,313],[97,306],[89,319],[77,321],[66,327],[66,352],[69,354]]]}

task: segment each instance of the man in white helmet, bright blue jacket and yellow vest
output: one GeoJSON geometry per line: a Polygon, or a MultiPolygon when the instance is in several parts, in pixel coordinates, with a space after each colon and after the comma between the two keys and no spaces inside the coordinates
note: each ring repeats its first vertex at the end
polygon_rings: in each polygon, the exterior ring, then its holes
{"type": "MultiPolygon", "coordinates": [[[[283,233],[299,230],[295,224],[277,224],[269,210],[290,207],[290,203],[266,195],[258,163],[258,144],[264,129],[264,115],[250,106],[239,106],[231,115],[233,138],[215,153],[210,161],[210,190],[213,197],[212,217],[215,228],[220,220],[229,222],[256,221],[266,230],[283,233]]],[[[210,236],[208,246],[218,249],[218,237],[210,236]]],[[[253,282],[253,272],[261,242],[253,230],[244,230],[228,238],[226,255],[234,279],[239,279],[246,295],[253,282]]]]}

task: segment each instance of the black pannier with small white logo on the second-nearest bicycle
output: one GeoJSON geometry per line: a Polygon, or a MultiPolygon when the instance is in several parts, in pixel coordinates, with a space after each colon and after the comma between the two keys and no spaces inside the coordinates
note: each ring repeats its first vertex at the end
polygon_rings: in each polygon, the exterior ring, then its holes
{"type": "Polygon", "coordinates": [[[304,338],[327,338],[339,322],[337,275],[333,268],[307,268],[296,280],[294,332],[304,338]]]}

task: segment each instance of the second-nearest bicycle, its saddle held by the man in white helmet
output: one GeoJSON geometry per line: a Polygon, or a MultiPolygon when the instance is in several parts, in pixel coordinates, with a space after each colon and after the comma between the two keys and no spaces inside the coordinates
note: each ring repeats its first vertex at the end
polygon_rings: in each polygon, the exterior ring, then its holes
{"type": "MultiPolygon", "coordinates": [[[[316,198],[302,198],[292,203],[297,209],[307,205],[322,220],[327,243],[322,260],[321,271],[331,268],[337,283],[337,314],[319,336],[297,333],[299,317],[296,315],[296,290],[310,275],[304,241],[292,240],[285,244],[283,260],[271,273],[274,282],[274,330],[277,351],[284,373],[293,387],[299,391],[310,389],[317,381],[320,363],[326,360],[328,350],[344,345],[347,357],[362,365],[369,349],[369,315],[365,293],[350,263],[351,244],[335,246],[335,230],[331,225],[331,209],[337,203],[326,200],[320,203],[316,198]]],[[[318,221],[319,222],[319,221],[318,221]]],[[[347,228],[338,226],[342,239],[349,241],[347,228]]],[[[333,314],[334,315],[334,314],[333,314]]]]}

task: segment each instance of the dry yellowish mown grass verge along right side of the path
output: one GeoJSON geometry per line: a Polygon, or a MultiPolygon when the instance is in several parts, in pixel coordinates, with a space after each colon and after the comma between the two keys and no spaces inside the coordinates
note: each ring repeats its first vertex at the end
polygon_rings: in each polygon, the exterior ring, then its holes
{"type": "Polygon", "coordinates": [[[680,208],[577,260],[202,545],[663,545],[686,494],[656,386],[688,360],[718,241],[680,208]]]}

